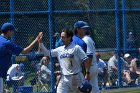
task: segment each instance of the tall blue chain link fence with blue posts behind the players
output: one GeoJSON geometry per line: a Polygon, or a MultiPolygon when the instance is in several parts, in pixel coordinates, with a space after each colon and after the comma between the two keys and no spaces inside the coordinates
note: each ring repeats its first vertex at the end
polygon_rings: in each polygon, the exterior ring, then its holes
{"type": "MultiPolygon", "coordinates": [[[[43,32],[43,42],[51,49],[54,47],[54,33],[61,32],[66,27],[73,28],[78,20],[86,21],[91,26],[90,35],[107,65],[114,51],[117,51],[119,56],[117,60],[120,63],[120,56],[123,57],[121,53],[131,50],[127,48],[129,32],[132,32],[137,40],[136,48],[140,46],[140,1],[138,0],[1,0],[0,4],[0,24],[12,22],[15,25],[13,40],[22,47],[29,45],[39,32],[43,32]]],[[[31,53],[20,55],[13,60],[13,63],[25,64],[27,78],[25,87],[21,89],[29,88],[33,92],[55,93],[54,75],[45,86],[38,84],[35,78],[36,65],[40,63],[42,57],[36,54],[37,51],[38,45],[31,53]]],[[[53,60],[51,61],[53,63],[53,60]]],[[[50,65],[53,71],[54,66],[50,65]]],[[[121,67],[120,65],[117,64],[118,68],[121,67]]],[[[117,75],[112,76],[112,79],[116,79],[115,82],[118,80],[119,83],[110,85],[107,76],[105,86],[123,87],[121,69],[116,73],[117,75]]],[[[102,83],[103,81],[100,82],[100,87],[102,83]]],[[[14,88],[10,87],[11,91],[12,89],[14,88]]]]}

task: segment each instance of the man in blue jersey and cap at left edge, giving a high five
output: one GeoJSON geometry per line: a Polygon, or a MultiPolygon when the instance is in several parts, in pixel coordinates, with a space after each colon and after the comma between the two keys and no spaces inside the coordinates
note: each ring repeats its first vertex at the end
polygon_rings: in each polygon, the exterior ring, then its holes
{"type": "Polygon", "coordinates": [[[11,41],[15,27],[12,23],[4,23],[0,35],[0,93],[3,93],[3,78],[6,78],[7,70],[11,62],[11,56],[20,53],[28,53],[37,42],[40,35],[26,48],[22,48],[11,41]]]}

